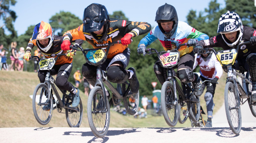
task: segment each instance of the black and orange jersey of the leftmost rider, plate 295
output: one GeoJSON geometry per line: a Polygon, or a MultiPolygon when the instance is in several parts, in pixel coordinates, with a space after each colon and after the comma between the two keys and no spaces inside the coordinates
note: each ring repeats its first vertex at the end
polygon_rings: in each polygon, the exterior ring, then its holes
{"type": "MultiPolygon", "coordinates": [[[[53,44],[52,47],[48,50],[48,51],[44,51],[43,49],[41,49],[41,47],[38,45],[36,40],[31,40],[32,38],[30,38],[30,41],[28,42],[28,46],[26,51],[30,51],[33,49],[34,46],[37,46],[40,51],[43,53],[43,55],[45,56],[45,58],[51,58],[51,57],[56,57],[59,54],[65,54],[67,53],[67,51],[63,51],[60,48],[60,45],[62,43],[62,36],[58,36],[58,35],[54,35],[54,40],[53,40],[53,44]]],[[[81,45],[83,43],[83,40],[76,40],[76,41],[71,41],[71,42],[75,42],[79,45],[81,45]]],[[[72,63],[73,61],[73,57],[68,57],[68,56],[60,56],[55,65],[61,65],[61,64],[65,64],[65,63],[72,63]]]]}

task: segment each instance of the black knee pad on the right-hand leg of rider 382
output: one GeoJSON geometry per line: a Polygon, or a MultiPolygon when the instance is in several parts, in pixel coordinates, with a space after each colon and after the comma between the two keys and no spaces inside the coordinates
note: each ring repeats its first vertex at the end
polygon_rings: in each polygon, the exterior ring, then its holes
{"type": "Polygon", "coordinates": [[[108,80],[113,83],[123,83],[129,78],[129,73],[123,70],[120,66],[112,65],[108,67],[108,80]]]}

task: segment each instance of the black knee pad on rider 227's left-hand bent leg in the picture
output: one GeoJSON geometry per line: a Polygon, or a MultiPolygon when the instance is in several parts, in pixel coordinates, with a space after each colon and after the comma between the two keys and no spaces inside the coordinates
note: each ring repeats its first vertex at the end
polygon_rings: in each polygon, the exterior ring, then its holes
{"type": "Polygon", "coordinates": [[[166,70],[160,65],[161,63],[157,61],[154,64],[154,72],[156,74],[156,78],[158,81],[163,85],[165,82],[165,79],[167,78],[166,70]]]}

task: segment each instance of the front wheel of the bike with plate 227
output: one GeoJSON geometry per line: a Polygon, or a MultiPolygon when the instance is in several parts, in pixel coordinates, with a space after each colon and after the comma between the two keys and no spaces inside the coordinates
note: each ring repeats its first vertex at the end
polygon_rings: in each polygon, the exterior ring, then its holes
{"type": "Polygon", "coordinates": [[[165,122],[174,127],[178,122],[178,100],[170,81],[165,81],[161,89],[161,105],[165,122]]]}

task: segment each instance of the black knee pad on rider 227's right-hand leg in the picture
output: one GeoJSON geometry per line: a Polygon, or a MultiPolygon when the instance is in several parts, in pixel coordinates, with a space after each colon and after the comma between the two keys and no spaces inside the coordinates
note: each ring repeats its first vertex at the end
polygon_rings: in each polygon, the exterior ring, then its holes
{"type": "Polygon", "coordinates": [[[195,80],[194,73],[189,69],[182,69],[182,70],[179,70],[177,73],[181,82],[189,83],[195,80]]]}

